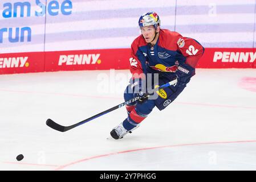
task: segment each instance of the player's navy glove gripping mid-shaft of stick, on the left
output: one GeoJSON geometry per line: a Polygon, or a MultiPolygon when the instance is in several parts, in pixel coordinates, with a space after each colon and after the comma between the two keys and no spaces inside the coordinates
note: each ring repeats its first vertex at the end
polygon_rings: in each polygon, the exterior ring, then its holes
{"type": "MultiPolygon", "coordinates": [[[[145,93],[147,93],[145,79],[143,79],[143,78],[131,78],[129,83],[131,84],[133,97],[143,97],[145,95],[145,93]]],[[[140,98],[136,102],[142,103],[145,100],[148,100],[148,97],[140,98]]]]}

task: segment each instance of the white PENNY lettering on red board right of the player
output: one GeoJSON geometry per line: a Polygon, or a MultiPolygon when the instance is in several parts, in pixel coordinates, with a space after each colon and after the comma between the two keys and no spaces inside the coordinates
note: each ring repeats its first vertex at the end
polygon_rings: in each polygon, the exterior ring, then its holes
{"type": "Polygon", "coordinates": [[[222,63],[253,63],[256,52],[214,52],[213,62],[222,63]]]}

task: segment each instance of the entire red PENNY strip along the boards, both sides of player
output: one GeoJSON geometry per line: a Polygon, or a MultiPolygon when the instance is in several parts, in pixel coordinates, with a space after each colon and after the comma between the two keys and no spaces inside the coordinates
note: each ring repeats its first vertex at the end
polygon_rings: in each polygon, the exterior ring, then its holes
{"type": "MultiPolygon", "coordinates": [[[[6,53],[0,55],[0,74],[128,69],[131,50],[95,49],[6,53]]],[[[253,48],[206,48],[197,68],[256,68],[253,48]]]]}

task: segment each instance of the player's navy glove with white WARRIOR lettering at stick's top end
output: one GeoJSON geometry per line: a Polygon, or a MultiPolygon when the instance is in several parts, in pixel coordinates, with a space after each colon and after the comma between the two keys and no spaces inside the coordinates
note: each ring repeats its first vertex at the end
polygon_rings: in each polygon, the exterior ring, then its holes
{"type": "Polygon", "coordinates": [[[195,75],[195,69],[188,64],[182,64],[178,66],[176,71],[177,86],[186,86],[190,81],[190,78],[195,75]]]}

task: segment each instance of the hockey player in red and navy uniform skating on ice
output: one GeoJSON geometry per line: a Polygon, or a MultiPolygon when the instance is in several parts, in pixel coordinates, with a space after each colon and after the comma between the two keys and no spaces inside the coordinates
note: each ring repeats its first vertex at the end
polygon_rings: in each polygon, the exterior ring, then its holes
{"type": "Polygon", "coordinates": [[[159,15],[155,12],[140,16],[141,35],[131,46],[132,78],[125,89],[124,100],[128,101],[138,94],[143,96],[147,92],[143,85],[147,82],[148,74],[158,74],[159,85],[176,78],[177,84],[159,90],[159,97],[156,99],[149,97],[136,101],[133,105],[126,105],[128,117],[110,133],[115,139],[123,138],[125,134],[136,129],[155,106],[159,110],[165,109],[196,74],[195,67],[204,53],[204,47],[192,38],[182,37],[178,32],[161,29],[160,24],[159,15]]]}

